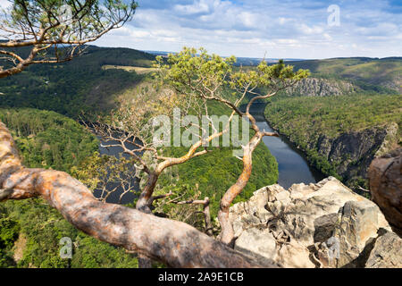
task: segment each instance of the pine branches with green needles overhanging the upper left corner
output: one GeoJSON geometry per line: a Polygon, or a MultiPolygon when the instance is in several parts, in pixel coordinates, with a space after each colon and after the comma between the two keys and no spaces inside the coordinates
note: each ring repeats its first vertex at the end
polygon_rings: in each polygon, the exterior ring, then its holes
{"type": "Polygon", "coordinates": [[[83,45],[130,21],[138,6],[133,0],[10,2],[0,15],[0,78],[33,63],[70,61],[83,45]]]}

